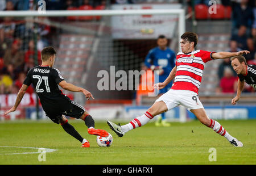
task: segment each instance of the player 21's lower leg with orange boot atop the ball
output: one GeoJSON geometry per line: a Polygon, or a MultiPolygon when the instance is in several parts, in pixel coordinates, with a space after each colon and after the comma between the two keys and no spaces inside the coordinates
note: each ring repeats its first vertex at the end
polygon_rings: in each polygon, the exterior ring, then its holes
{"type": "Polygon", "coordinates": [[[90,116],[86,111],[84,112],[84,114],[82,114],[80,119],[84,120],[85,125],[88,127],[88,129],[87,129],[88,133],[90,135],[97,135],[97,136],[101,136],[101,137],[106,137],[109,135],[109,133],[103,129],[95,129],[94,128],[94,120],[93,120],[92,116],[90,116]]]}

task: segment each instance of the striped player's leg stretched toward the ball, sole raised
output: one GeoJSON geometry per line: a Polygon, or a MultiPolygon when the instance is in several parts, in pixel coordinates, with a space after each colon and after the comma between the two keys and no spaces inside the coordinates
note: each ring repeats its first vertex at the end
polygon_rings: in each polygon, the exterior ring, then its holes
{"type": "Polygon", "coordinates": [[[117,134],[117,136],[122,137],[131,129],[142,127],[144,124],[147,124],[148,121],[153,119],[154,116],[166,112],[167,110],[167,106],[163,101],[155,102],[145,114],[138,116],[125,125],[120,126],[114,124],[112,121],[107,121],[107,124],[117,134]]]}

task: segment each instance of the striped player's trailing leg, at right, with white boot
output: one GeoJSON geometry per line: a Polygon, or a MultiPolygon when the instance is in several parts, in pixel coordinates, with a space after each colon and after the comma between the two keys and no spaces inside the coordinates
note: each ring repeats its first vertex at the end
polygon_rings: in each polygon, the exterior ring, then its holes
{"type": "Polygon", "coordinates": [[[204,125],[206,125],[209,128],[212,128],[213,131],[215,131],[219,135],[224,136],[230,142],[230,144],[232,144],[236,147],[243,146],[241,141],[238,141],[235,137],[229,135],[229,133],[226,131],[226,129],[224,129],[222,127],[222,125],[220,123],[218,123],[218,121],[209,119],[207,114],[205,113],[204,108],[191,110],[191,112],[193,112],[193,114],[195,114],[196,118],[199,119],[201,123],[203,123],[204,125]]]}

